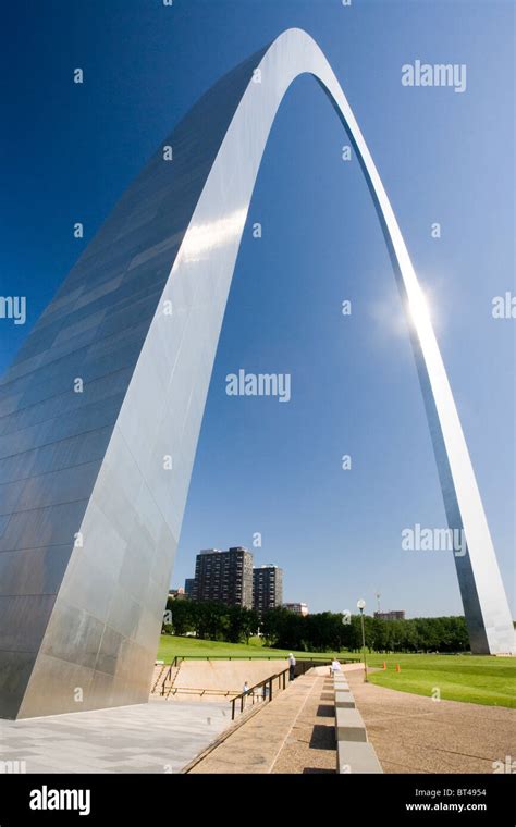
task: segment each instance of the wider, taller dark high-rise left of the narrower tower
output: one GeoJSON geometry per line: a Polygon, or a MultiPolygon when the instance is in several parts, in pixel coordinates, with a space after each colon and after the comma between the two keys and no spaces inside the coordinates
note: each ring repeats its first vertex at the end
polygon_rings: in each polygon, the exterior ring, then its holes
{"type": "Polygon", "coordinates": [[[253,554],[242,546],[200,552],[195,564],[194,600],[253,608],[253,554]]]}

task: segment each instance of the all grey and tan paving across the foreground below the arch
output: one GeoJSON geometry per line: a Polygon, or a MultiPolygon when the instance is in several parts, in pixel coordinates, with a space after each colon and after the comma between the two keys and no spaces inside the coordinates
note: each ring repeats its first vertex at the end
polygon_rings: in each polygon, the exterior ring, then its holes
{"type": "MultiPolygon", "coordinates": [[[[514,755],[512,709],[435,703],[365,684],[360,665],[345,671],[384,773],[489,774],[493,762],[514,755]]],[[[0,720],[0,762],[24,762],[27,773],[180,773],[229,730],[189,772],[334,773],[333,699],[328,670],[318,667],[272,703],[260,704],[256,714],[249,707],[250,717],[236,729],[226,699],[200,703],[185,694],[113,709],[0,720]]]]}

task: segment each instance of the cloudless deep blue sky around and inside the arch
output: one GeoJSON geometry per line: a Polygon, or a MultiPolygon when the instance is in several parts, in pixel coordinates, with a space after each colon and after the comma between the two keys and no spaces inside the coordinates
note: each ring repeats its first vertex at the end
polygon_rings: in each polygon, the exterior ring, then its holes
{"type": "MultiPolygon", "coordinates": [[[[429,296],[514,610],[516,321],[491,314],[494,296],[515,292],[513,16],[511,0],[9,4],[0,292],[28,306],[26,325],[0,320],[2,371],[179,118],[283,29],[305,28],[343,85],[429,296]],[[466,91],[402,86],[417,59],[466,64],[466,91]]],[[[296,81],[249,211],[172,582],[193,575],[200,548],[253,548],[260,532],[255,561],[282,566],[285,600],[311,610],[361,596],[371,609],[379,591],[382,608],[409,616],[460,613],[452,555],[401,547],[404,528],[446,523],[390,260],[346,143],[316,82],[296,81]],[[228,396],[239,368],[291,373],[292,400],[228,396]]]]}

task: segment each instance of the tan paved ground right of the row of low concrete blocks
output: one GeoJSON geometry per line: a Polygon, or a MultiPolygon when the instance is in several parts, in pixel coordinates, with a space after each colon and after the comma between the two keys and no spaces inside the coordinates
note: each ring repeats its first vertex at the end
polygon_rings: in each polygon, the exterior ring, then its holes
{"type": "Polygon", "coordinates": [[[432,701],[364,683],[349,688],[384,773],[492,773],[493,762],[516,755],[514,709],[432,701]]]}

